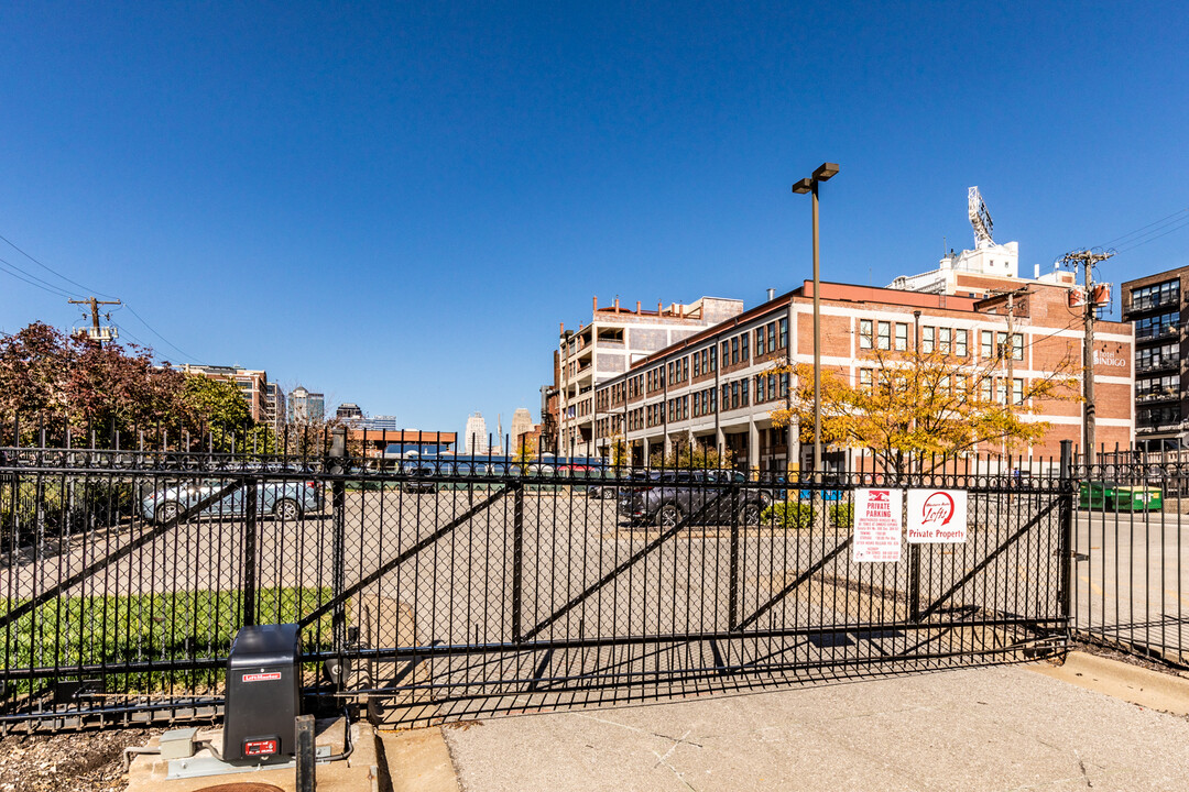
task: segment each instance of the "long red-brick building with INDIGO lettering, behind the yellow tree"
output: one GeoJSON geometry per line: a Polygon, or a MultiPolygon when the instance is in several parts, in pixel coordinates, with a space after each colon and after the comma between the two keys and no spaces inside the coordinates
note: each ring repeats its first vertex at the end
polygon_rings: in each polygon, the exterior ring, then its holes
{"type": "MultiPolygon", "coordinates": [[[[876,349],[905,350],[919,338],[925,350],[979,365],[1006,344],[1011,349],[1011,381],[1007,366],[1004,376],[995,380],[1002,399],[1023,392],[1030,379],[1052,375],[1070,359],[1074,373],[1081,370],[1076,361],[1081,360],[1083,334],[1081,311],[1070,308],[1071,280],[968,274],[970,280],[955,278],[955,286],[943,290],[956,293],[822,284],[823,366],[858,385],[870,366],[864,357],[876,349]],[[975,278],[987,283],[979,284],[975,278]],[[1012,289],[1002,289],[1005,280],[1012,289]]],[[[812,362],[812,283],[805,281],[725,322],[686,334],[634,361],[627,372],[597,382],[589,414],[596,451],[608,456],[615,438],[623,437],[637,463],[674,443],[730,449],[736,464],[751,470],[782,470],[789,462],[805,463],[795,441],[789,454],[792,433],[772,426],[770,413],[786,404],[789,382],[768,369],[773,361],[786,360],[789,349],[793,362],[812,362]]],[[[1130,446],[1131,327],[1100,322],[1094,360],[1097,441],[1130,446]]],[[[1025,454],[1056,456],[1059,441],[1078,442],[1078,401],[1048,401],[1043,411],[1034,419],[1049,422],[1051,430],[1025,454]]],[[[984,455],[998,450],[979,449],[984,455]]],[[[828,464],[839,464],[845,454],[832,449],[828,464]]]]}

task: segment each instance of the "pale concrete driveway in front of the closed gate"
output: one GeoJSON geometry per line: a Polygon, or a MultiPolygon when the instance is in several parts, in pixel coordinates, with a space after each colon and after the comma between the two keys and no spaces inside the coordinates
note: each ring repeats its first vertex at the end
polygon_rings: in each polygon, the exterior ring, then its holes
{"type": "Polygon", "coordinates": [[[1024,666],[443,733],[465,792],[1189,790],[1189,720],[1024,666]]]}

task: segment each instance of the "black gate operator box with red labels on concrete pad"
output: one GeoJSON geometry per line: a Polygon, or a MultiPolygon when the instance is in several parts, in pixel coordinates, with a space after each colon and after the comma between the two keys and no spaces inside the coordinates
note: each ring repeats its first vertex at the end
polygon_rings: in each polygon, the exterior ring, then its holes
{"type": "Polygon", "coordinates": [[[292,755],[296,746],[301,646],[297,625],[243,627],[227,658],[225,761],[292,755]]]}

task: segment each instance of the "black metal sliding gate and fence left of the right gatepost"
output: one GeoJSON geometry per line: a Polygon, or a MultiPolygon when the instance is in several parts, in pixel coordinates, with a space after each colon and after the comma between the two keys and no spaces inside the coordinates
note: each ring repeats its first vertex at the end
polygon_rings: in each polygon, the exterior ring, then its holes
{"type": "Polygon", "coordinates": [[[323,439],[4,449],[0,724],[213,716],[251,623],[302,625],[310,695],[420,724],[1012,661],[1083,602],[1068,460],[786,482],[323,439]],[[967,541],[856,562],[868,487],[965,490],[967,541]]]}

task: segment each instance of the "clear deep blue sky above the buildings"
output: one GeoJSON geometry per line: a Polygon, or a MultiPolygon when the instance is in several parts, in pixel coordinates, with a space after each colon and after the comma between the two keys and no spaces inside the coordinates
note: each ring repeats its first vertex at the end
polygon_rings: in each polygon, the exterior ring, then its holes
{"type": "MultiPolygon", "coordinates": [[[[825,277],[861,284],[970,247],[973,184],[1023,273],[1189,209],[1181,4],[887,5],[5,4],[0,234],[81,286],[0,270],[461,431],[536,413],[594,294],[809,277],[823,160],[825,277]]],[[[1176,222],[1101,277],[1189,264],[1176,222]]],[[[0,272],[0,329],[77,313],[0,272]]]]}

